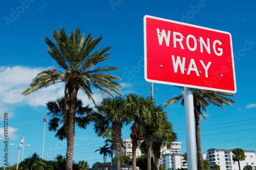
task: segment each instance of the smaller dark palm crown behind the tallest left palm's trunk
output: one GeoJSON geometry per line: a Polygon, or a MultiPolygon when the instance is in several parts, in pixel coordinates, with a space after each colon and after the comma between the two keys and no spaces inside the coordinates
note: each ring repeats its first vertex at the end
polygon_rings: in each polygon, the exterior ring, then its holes
{"type": "MultiPolygon", "coordinates": [[[[67,100],[69,103],[69,100],[67,100]]],[[[58,98],[56,101],[49,101],[46,103],[48,115],[52,118],[49,121],[49,131],[54,131],[56,133],[55,137],[59,140],[67,138],[68,134],[68,113],[69,110],[65,106],[65,98],[58,98]]],[[[90,124],[90,118],[87,115],[92,112],[93,109],[87,105],[83,107],[83,103],[80,99],[76,101],[76,115],[75,124],[80,129],[86,129],[87,125],[90,124]]]]}

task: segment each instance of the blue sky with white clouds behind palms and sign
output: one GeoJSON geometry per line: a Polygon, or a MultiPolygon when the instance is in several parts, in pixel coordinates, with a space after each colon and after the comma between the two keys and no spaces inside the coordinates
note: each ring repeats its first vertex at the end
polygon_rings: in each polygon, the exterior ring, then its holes
{"type": "MultiPolygon", "coordinates": [[[[66,33],[78,27],[84,34],[103,36],[97,46],[112,46],[110,59],[102,65],[118,66],[112,73],[122,78],[122,94],[150,92],[144,80],[143,16],[151,15],[193,25],[226,31],[232,35],[236,68],[236,105],[225,110],[209,106],[201,120],[202,151],[211,148],[242,148],[256,150],[256,35],[254,1],[5,1],[0,7],[0,166],[4,155],[3,115],[8,112],[9,143],[19,144],[25,136],[24,158],[42,152],[42,117],[47,112],[45,103],[63,95],[63,84],[43,89],[28,96],[21,93],[42,70],[58,68],[47,54],[44,36],[52,38],[52,30],[63,27],[66,33]]],[[[179,95],[181,90],[171,85],[154,84],[157,104],[179,95]]],[[[94,90],[100,102],[103,96],[94,90]]],[[[91,104],[83,93],[78,94],[84,104],[91,104]]],[[[147,94],[150,95],[150,94],[147,94]]],[[[186,152],[184,107],[180,103],[165,108],[170,122],[186,152]]],[[[50,117],[47,117],[48,120],[50,117]]],[[[130,136],[129,127],[123,128],[123,138],[130,136]]],[[[59,141],[46,124],[44,157],[54,159],[66,155],[66,141],[59,141]]],[[[88,161],[89,165],[102,162],[103,157],[94,153],[104,145],[93,127],[76,129],[74,160],[88,161]]],[[[9,145],[9,163],[17,162],[18,147],[9,145]]],[[[22,152],[20,152],[20,155],[22,152]]],[[[21,156],[19,158],[21,160],[21,156]]],[[[108,158],[108,160],[110,160],[108,158]]]]}

